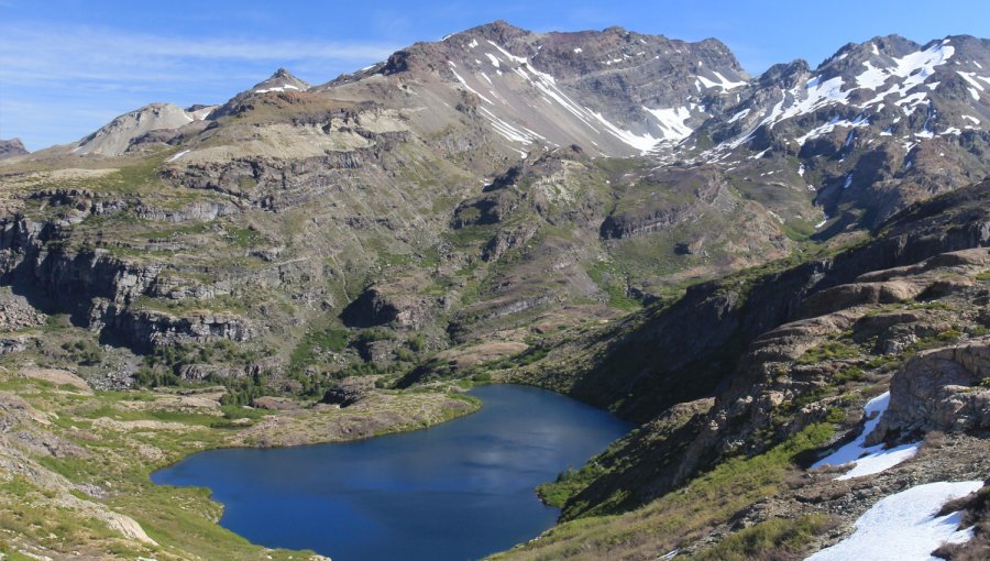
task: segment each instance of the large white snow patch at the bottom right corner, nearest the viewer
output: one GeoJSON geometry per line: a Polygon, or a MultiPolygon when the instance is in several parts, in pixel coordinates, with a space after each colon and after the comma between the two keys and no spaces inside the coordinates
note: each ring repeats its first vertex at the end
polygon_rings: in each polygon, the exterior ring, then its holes
{"type": "Polygon", "coordinates": [[[964,543],[972,529],[959,530],[961,513],[937,516],[942,505],[982,487],[980,481],[938,482],[917,485],[881,498],[856,520],[856,531],[805,561],[935,560],[932,551],[943,543],[964,543]]]}

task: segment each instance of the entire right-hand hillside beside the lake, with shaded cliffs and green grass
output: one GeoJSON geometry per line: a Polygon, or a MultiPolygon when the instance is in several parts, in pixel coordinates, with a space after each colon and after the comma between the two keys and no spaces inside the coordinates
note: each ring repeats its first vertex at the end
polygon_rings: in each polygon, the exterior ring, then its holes
{"type": "MultiPolygon", "coordinates": [[[[983,182],[913,206],[875,241],[701,286],[625,338],[605,334],[613,348],[604,353],[575,355],[568,343],[547,360],[634,356],[648,364],[625,365],[638,372],[634,382],[607,366],[576,378],[547,362],[509,372],[508,380],[571,384],[563,389],[647,421],[541,487],[572,521],[499,558],[803,558],[848,537],[883,497],[946,481],[980,488],[990,474],[988,200],[983,182]],[[721,319],[705,324],[714,319],[706,309],[721,319]],[[669,340],[679,333],[707,348],[669,340]],[[674,359],[673,349],[686,356],[674,359]],[[693,369],[679,369],[693,356],[693,369]],[[711,356],[723,359],[721,371],[706,377],[700,366],[711,356]],[[659,405],[672,402],[683,403],[659,405]]],[[[986,554],[979,496],[925,507],[969,508],[958,516],[980,528],[944,554],[986,554]]],[[[932,516],[914,515],[917,524],[932,516]]]]}

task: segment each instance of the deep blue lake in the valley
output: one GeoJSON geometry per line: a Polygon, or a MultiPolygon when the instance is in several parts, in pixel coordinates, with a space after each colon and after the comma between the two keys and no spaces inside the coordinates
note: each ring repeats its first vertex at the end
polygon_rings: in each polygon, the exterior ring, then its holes
{"type": "Polygon", "coordinates": [[[484,407],[438,427],[360,442],[211,450],[152,475],[212,490],[220,524],[272,548],[334,561],[466,560],[553,526],[534,487],[631,426],[569,397],[493,385],[484,407]]]}

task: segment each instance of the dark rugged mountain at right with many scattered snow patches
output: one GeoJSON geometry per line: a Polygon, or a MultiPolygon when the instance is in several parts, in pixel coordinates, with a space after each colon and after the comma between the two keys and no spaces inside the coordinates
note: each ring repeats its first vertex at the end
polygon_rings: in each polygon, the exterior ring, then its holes
{"type": "Polygon", "coordinates": [[[705,122],[688,153],[750,176],[796,172],[831,217],[818,235],[873,227],[990,172],[988,47],[970,36],[922,46],[892,35],[850,43],[814,70],[777,65],[705,122]]]}

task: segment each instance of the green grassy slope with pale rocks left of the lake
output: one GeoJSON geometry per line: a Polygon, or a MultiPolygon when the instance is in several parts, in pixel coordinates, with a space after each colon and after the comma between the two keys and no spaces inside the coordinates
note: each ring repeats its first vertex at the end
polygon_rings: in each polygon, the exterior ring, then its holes
{"type": "MultiPolygon", "coordinates": [[[[210,499],[208,490],[158,486],[148,479],[154,470],[189,453],[243,444],[242,430],[263,420],[278,420],[284,414],[180,405],[175,395],[157,392],[88,395],[70,386],[4,375],[0,398],[13,395],[23,397],[40,418],[52,419],[47,426],[21,425],[19,430],[46,441],[68,442],[69,452],[29,452],[21,463],[30,466],[26,475],[4,463],[0,454],[0,504],[4,505],[0,509],[0,551],[21,549],[50,557],[79,551],[101,559],[299,558],[298,552],[253,546],[218,526],[222,507],[210,499]],[[66,504],[72,502],[66,495],[130,516],[157,546],[124,538],[98,517],[66,504]]],[[[371,414],[330,409],[304,413],[292,422],[305,426],[308,419],[331,427],[375,413],[400,418],[376,431],[387,433],[442,422],[477,406],[458,398],[454,402],[466,406],[450,408],[447,395],[436,392],[391,397],[371,414]]],[[[334,437],[328,430],[309,438],[334,437]]]]}

